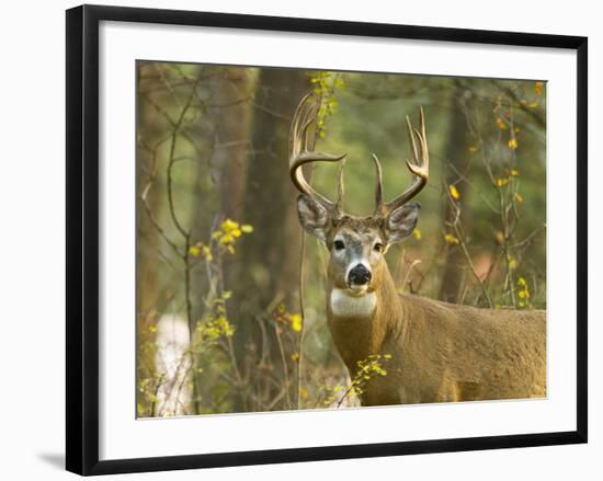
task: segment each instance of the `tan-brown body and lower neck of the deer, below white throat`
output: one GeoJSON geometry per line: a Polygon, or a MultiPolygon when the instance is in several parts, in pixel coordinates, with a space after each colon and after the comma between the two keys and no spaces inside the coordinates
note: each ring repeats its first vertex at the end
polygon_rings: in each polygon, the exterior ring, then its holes
{"type": "Polygon", "coordinates": [[[328,323],[350,376],[371,354],[391,354],[385,377],[371,379],[364,405],[546,396],[544,311],[499,311],[398,295],[391,277],[373,312],[333,309],[328,323]],[[339,313],[343,313],[340,316],[339,313]]]}

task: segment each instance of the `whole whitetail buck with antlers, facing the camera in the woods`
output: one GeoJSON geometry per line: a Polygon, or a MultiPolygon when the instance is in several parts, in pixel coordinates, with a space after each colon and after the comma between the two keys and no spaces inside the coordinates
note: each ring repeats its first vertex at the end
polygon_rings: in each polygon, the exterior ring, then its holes
{"type": "Polygon", "coordinates": [[[375,163],[376,209],[369,217],[344,214],[340,170],[339,199],[317,193],[304,177],[309,162],[342,160],[315,152],[308,130],[317,102],[304,98],[292,124],[291,177],[302,192],[299,221],[306,232],[330,251],[327,314],[335,346],[350,376],[357,362],[390,354],[385,377],[371,379],[361,394],[364,405],[546,396],[546,312],[493,310],[400,295],[385,261],[385,252],[409,236],[420,205],[410,202],[426,184],[429,151],[423,111],[420,128],[407,116],[413,162],[410,187],[384,203],[382,168],[375,163]]]}

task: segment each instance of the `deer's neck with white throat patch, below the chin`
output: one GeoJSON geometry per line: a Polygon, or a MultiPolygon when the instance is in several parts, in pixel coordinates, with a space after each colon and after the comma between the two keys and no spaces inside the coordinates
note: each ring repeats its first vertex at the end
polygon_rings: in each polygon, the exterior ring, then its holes
{"type": "Polygon", "coordinates": [[[401,329],[403,320],[400,297],[387,268],[378,288],[361,297],[329,286],[327,313],[335,346],[352,371],[371,354],[386,354],[382,353],[385,340],[401,329]]]}

